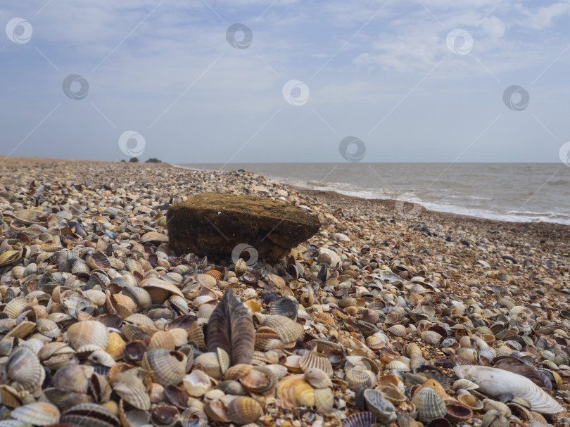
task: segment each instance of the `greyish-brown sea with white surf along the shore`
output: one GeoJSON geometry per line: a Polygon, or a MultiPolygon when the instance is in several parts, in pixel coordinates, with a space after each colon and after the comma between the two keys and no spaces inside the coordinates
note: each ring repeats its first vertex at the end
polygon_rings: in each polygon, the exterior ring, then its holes
{"type": "Polygon", "coordinates": [[[415,201],[425,208],[512,222],[570,224],[570,167],[562,163],[180,164],[250,170],[305,189],[415,201]]]}

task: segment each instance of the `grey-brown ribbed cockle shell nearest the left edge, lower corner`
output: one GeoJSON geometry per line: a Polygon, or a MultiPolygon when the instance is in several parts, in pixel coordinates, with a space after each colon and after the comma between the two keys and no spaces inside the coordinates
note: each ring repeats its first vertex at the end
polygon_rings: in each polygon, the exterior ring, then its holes
{"type": "Polygon", "coordinates": [[[46,373],[39,362],[37,355],[25,347],[18,347],[12,351],[6,361],[0,378],[6,381],[16,381],[23,390],[37,389],[46,377],[46,373]]]}

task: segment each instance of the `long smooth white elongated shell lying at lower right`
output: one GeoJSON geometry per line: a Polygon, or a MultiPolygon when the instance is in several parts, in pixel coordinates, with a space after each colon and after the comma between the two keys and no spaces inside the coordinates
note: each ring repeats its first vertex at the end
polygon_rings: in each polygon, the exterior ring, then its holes
{"type": "Polygon", "coordinates": [[[503,369],[481,366],[457,366],[453,369],[460,378],[467,378],[479,384],[481,393],[491,397],[500,397],[511,393],[515,397],[523,397],[531,404],[531,410],[541,414],[557,414],[564,408],[556,400],[547,395],[528,378],[503,369]]]}

